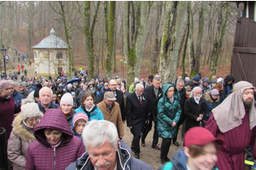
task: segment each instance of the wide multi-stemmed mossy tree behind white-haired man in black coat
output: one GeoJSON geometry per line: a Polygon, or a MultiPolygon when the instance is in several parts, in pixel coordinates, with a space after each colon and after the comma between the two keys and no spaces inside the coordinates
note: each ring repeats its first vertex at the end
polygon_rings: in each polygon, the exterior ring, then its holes
{"type": "Polygon", "coordinates": [[[124,51],[127,63],[126,87],[131,85],[134,77],[139,76],[148,28],[148,13],[151,6],[151,2],[125,2],[124,51]]]}

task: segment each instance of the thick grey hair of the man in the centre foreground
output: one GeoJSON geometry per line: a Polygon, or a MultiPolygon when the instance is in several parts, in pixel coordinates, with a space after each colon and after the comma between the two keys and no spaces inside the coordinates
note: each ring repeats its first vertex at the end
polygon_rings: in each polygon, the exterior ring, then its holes
{"type": "Polygon", "coordinates": [[[109,142],[115,148],[119,136],[113,122],[92,120],[84,127],[82,138],[85,148],[89,145],[92,148],[101,147],[105,142],[109,142]]]}

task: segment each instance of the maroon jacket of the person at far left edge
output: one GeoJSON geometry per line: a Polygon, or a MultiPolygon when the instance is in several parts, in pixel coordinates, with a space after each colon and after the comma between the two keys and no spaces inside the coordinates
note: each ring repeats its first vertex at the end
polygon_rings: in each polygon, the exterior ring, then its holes
{"type": "Polygon", "coordinates": [[[0,97],[0,127],[5,128],[6,141],[9,139],[9,135],[12,132],[12,123],[15,119],[15,113],[20,112],[20,105],[15,105],[15,99],[13,95],[10,95],[9,99],[0,97]]]}

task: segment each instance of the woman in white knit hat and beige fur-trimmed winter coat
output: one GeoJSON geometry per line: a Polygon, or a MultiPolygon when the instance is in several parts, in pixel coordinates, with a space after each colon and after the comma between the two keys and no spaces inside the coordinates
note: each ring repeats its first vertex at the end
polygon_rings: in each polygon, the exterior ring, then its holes
{"type": "Polygon", "coordinates": [[[28,145],[36,138],[32,130],[38,125],[41,117],[38,105],[32,99],[21,100],[21,111],[13,122],[13,131],[8,141],[8,158],[13,162],[13,169],[25,169],[28,145]]]}

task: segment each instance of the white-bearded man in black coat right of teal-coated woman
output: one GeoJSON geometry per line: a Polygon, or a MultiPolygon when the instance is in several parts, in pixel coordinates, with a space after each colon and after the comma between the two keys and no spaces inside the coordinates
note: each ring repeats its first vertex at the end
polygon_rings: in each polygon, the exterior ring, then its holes
{"type": "Polygon", "coordinates": [[[186,116],[185,133],[191,127],[201,127],[203,117],[207,114],[207,103],[202,97],[200,87],[193,88],[190,98],[185,101],[184,114],[186,116]]]}

